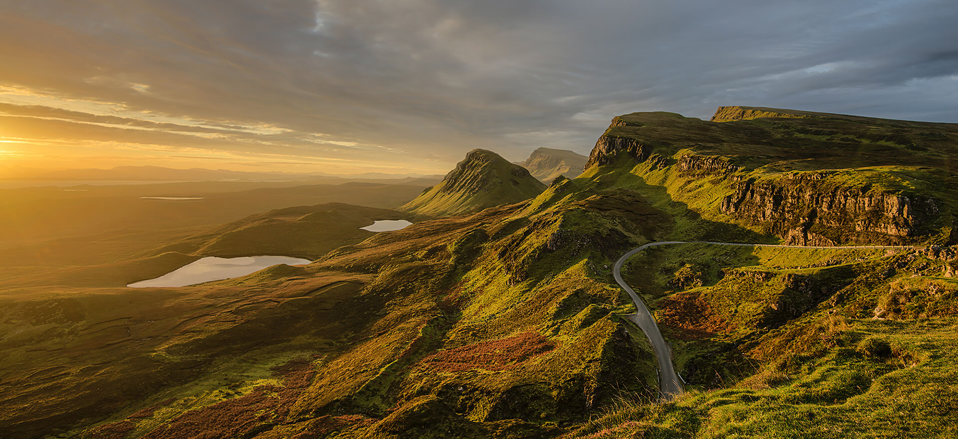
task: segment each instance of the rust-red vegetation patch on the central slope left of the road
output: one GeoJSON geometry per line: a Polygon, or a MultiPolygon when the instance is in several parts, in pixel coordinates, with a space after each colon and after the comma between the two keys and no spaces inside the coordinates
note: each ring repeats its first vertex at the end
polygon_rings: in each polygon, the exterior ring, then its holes
{"type": "Polygon", "coordinates": [[[538,333],[523,333],[498,340],[481,341],[423,358],[421,367],[445,372],[469,369],[506,370],[551,351],[555,345],[538,333]]]}

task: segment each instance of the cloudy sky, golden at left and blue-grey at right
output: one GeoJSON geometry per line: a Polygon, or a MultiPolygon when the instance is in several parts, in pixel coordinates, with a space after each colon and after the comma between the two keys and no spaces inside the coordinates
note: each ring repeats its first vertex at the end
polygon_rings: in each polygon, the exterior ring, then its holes
{"type": "Polygon", "coordinates": [[[633,111],[958,123],[954,0],[0,0],[12,166],[445,173],[633,111]]]}

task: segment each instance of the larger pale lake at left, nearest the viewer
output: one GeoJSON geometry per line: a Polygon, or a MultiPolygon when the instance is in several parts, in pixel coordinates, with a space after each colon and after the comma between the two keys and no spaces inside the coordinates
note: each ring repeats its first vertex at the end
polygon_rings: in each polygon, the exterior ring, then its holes
{"type": "Polygon", "coordinates": [[[309,264],[310,262],[308,259],[290,258],[288,256],[245,256],[242,258],[217,258],[209,256],[186,266],[176,268],[158,278],[134,282],[126,287],[185,287],[203,282],[245,276],[267,266],[276,266],[278,264],[299,266],[309,264]]]}

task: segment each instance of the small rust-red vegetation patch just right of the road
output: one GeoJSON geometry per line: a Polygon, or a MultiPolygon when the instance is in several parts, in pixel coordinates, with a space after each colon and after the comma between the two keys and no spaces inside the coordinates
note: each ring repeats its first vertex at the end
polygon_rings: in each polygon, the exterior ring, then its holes
{"type": "Polygon", "coordinates": [[[728,322],[715,315],[697,292],[683,291],[662,301],[655,319],[669,336],[694,340],[727,332],[728,322]]]}

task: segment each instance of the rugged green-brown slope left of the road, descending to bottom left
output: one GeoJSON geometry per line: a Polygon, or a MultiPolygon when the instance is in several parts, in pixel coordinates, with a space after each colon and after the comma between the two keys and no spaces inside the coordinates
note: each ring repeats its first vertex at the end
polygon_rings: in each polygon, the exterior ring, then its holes
{"type": "MultiPolygon", "coordinates": [[[[657,215],[641,197],[631,201],[642,215],[657,215]]],[[[629,225],[632,208],[617,202],[592,198],[536,216],[516,216],[524,206],[512,205],[419,222],[310,266],[151,289],[141,306],[92,306],[96,314],[71,314],[66,323],[56,315],[90,308],[84,301],[132,304],[145,292],[71,289],[62,297],[72,303],[11,298],[4,322],[29,330],[3,345],[20,358],[4,363],[15,383],[4,397],[36,410],[7,412],[4,423],[24,437],[102,419],[108,423],[90,437],[328,429],[354,437],[555,436],[559,423],[587,419],[622,391],[653,392],[648,347],[612,313],[629,305],[606,288],[601,266],[668,220],[629,225]],[[595,207],[613,205],[619,213],[595,207]],[[610,220],[623,225],[608,229],[610,220]],[[304,314],[322,310],[329,312],[304,314]],[[53,354],[29,354],[40,345],[53,354]],[[148,362],[111,360],[121,357],[148,362]],[[171,385],[109,381],[143,374],[171,385]],[[85,396],[52,397],[49,385],[85,396]]]]}

